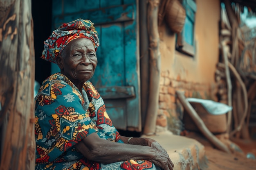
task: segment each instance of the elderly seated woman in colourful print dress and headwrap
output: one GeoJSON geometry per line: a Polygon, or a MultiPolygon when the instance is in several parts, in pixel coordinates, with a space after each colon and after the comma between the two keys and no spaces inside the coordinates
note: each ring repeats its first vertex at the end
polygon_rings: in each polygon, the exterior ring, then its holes
{"type": "Polygon", "coordinates": [[[88,81],[97,66],[99,38],[90,20],[62,24],[44,42],[42,57],[61,72],[36,96],[36,170],[172,170],[155,140],[120,136],[88,81]]]}

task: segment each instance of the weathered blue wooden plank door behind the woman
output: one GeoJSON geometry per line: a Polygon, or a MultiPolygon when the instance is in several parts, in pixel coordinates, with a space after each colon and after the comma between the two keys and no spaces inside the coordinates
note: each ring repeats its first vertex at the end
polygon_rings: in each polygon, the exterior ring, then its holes
{"type": "MultiPolygon", "coordinates": [[[[89,19],[99,33],[98,65],[90,79],[114,126],[141,131],[137,0],[54,0],[53,26],[89,19]]],[[[57,72],[52,65],[52,72],[57,72]]]]}

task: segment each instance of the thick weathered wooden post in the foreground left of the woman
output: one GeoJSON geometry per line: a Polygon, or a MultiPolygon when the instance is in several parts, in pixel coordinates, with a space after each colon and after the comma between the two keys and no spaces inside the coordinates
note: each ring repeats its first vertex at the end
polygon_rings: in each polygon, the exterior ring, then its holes
{"type": "Polygon", "coordinates": [[[34,170],[34,35],[31,0],[0,3],[0,170],[34,170]]]}

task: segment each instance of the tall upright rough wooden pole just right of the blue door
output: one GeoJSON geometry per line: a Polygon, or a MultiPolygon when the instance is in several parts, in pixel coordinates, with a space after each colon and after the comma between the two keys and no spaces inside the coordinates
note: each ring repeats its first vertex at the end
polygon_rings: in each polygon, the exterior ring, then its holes
{"type": "Polygon", "coordinates": [[[148,0],[148,37],[149,37],[149,95],[146,122],[144,126],[145,135],[155,134],[160,81],[160,52],[158,33],[158,6],[159,0],[148,0]]]}

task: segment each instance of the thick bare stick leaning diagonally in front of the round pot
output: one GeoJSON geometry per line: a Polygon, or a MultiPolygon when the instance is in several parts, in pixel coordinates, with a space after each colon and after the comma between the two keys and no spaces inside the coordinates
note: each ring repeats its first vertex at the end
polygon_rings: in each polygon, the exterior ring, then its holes
{"type": "Polygon", "coordinates": [[[216,136],[214,136],[211,131],[205,126],[203,120],[198,116],[198,113],[196,113],[195,109],[191,106],[191,104],[186,100],[186,97],[184,96],[183,92],[176,91],[177,98],[182,103],[184,109],[189,113],[189,116],[193,119],[196,126],[198,126],[198,129],[202,132],[202,134],[209,139],[209,141],[216,146],[218,149],[226,152],[231,153],[229,148],[225,146],[216,136]]]}

